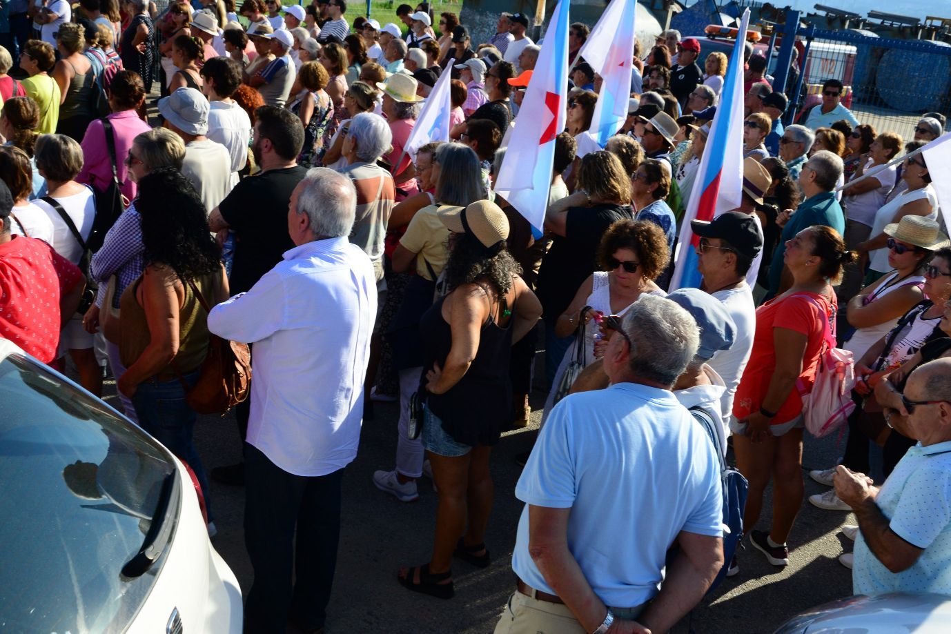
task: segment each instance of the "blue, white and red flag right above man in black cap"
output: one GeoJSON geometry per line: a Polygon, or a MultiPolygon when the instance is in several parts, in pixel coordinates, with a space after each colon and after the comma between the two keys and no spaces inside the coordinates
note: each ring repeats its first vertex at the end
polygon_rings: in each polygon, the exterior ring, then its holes
{"type": "Polygon", "coordinates": [[[680,227],[676,268],[670,290],[699,288],[695,248],[700,238],[694,235],[690,221],[712,221],[720,214],[736,209],[743,199],[743,49],[749,25],[749,10],[743,12],[733,52],[730,54],[723,93],[716,117],[710,125],[707,146],[700,158],[697,177],[680,227]]]}

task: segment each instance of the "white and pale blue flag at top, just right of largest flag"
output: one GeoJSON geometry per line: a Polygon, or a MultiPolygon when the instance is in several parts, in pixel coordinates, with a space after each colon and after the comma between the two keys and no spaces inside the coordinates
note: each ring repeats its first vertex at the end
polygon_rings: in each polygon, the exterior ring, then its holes
{"type": "Polygon", "coordinates": [[[636,0],[611,0],[578,52],[601,75],[601,93],[589,130],[601,147],[608,144],[628,116],[636,13],[636,0]]]}

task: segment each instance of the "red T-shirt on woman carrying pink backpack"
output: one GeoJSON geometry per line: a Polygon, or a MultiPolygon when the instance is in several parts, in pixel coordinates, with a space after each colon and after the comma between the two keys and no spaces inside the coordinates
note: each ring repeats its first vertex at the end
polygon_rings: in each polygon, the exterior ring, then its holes
{"type": "MultiPolygon", "coordinates": [[[[753,350],[749,355],[747,368],[736,388],[733,398],[733,415],[742,420],[749,414],[759,412],[763,399],[769,390],[776,369],[776,348],[773,344],[773,328],[788,328],[808,336],[803,355],[803,371],[799,377],[810,390],[816,379],[819,367],[819,353],[822,351],[825,324],[823,320],[835,315],[835,295],[832,303],[821,295],[805,293],[818,301],[821,310],[814,301],[805,297],[789,296],[767,301],[756,309],[756,331],[753,334],[753,350]]],[[[803,399],[793,387],[786,397],[783,407],[772,419],[773,425],[787,423],[803,411],[803,399]]]]}

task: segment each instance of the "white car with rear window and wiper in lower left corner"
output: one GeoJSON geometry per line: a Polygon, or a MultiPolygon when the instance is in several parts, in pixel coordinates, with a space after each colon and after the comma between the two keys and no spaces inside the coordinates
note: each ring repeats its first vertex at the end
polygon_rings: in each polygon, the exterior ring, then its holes
{"type": "Polygon", "coordinates": [[[3,339],[0,518],[0,630],[242,631],[183,463],[3,339]]]}

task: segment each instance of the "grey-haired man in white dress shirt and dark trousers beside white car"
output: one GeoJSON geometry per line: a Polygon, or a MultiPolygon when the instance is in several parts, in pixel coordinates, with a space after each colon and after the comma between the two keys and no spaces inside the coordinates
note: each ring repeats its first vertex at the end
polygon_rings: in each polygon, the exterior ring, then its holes
{"type": "Polygon", "coordinates": [[[244,605],[249,632],[284,631],[289,618],[304,631],[324,624],[340,483],[357,456],[377,313],[373,264],[347,240],[356,205],[346,176],[308,171],[286,214],[296,246],[250,291],[208,315],[211,332],[254,344],[244,445],[244,541],[254,568],[244,605]],[[295,531],[304,536],[296,553],[295,531]]]}

